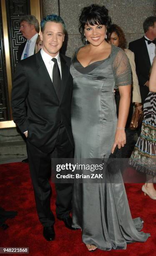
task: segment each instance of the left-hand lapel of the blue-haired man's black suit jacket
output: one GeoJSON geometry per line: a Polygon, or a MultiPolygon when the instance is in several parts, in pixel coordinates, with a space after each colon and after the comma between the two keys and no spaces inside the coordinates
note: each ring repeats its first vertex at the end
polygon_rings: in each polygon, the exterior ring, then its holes
{"type": "Polygon", "coordinates": [[[53,86],[53,82],[49,76],[48,70],[44,64],[44,61],[40,54],[40,51],[37,54],[35,54],[35,56],[36,56],[37,69],[38,69],[39,73],[41,74],[42,79],[44,79],[46,86],[50,88],[52,95],[55,95],[55,97],[58,99],[58,96],[55,92],[55,88],[53,86]]]}

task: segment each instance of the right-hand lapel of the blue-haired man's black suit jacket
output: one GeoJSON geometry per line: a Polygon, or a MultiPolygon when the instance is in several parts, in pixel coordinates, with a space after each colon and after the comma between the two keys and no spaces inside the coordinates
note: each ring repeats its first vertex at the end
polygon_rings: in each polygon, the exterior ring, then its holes
{"type": "Polygon", "coordinates": [[[62,74],[61,89],[60,89],[60,102],[61,102],[63,98],[63,94],[65,92],[65,87],[67,85],[67,79],[69,76],[69,68],[66,65],[66,61],[61,54],[60,54],[60,64],[61,64],[61,74],[62,74]]]}

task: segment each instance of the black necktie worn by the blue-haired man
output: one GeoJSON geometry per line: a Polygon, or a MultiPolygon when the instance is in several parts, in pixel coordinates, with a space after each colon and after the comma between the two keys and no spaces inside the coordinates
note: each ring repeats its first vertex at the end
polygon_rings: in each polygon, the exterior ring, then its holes
{"type": "Polygon", "coordinates": [[[60,100],[60,86],[61,86],[60,69],[58,67],[57,59],[53,58],[52,61],[54,62],[54,66],[53,66],[53,85],[54,85],[56,94],[58,96],[58,99],[60,100]]]}

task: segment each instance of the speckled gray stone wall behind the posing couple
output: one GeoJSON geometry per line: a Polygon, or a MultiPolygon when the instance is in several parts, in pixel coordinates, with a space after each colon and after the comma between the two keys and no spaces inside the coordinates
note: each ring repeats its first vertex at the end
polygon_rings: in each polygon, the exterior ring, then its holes
{"type": "Polygon", "coordinates": [[[156,0],[43,0],[43,17],[51,13],[59,14],[60,10],[60,16],[65,21],[68,31],[67,56],[82,45],[78,15],[83,7],[92,3],[106,6],[112,22],[121,26],[128,43],[143,36],[143,21],[148,16],[156,15],[156,0]]]}

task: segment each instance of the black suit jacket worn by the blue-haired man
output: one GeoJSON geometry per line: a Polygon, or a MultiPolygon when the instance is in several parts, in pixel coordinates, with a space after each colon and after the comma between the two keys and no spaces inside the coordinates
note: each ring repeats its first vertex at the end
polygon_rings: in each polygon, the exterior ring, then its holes
{"type": "Polygon", "coordinates": [[[28,140],[43,152],[55,147],[61,120],[65,125],[72,146],[70,103],[73,79],[70,58],[60,54],[62,83],[60,101],[40,54],[34,54],[16,66],[12,90],[13,120],[28,140]],[[25,100],[28,113],[25,111],[25,100]]]}

